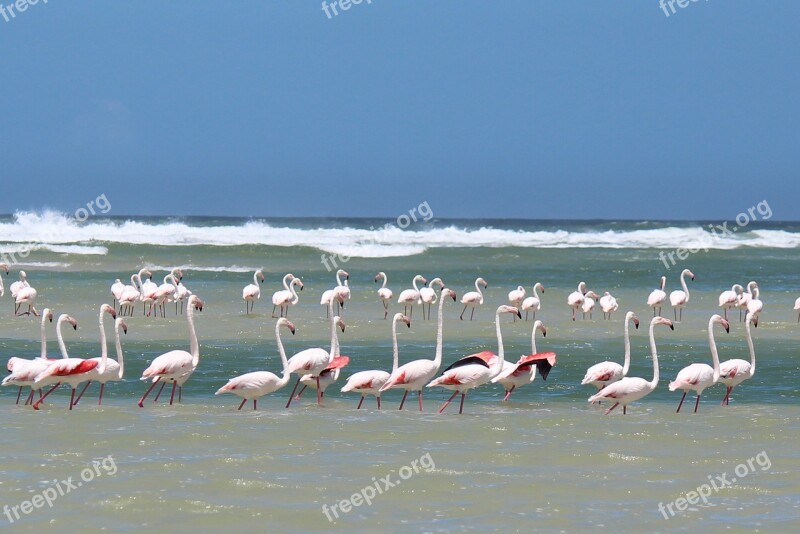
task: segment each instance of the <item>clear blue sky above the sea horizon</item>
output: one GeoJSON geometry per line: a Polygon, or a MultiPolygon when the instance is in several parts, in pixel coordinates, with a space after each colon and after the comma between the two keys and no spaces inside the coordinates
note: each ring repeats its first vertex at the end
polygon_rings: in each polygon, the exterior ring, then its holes
{"type": "Polygon", "coordinates": [[[800,2],[681,1],[0,0],[0,213],[800,220],[800,2]]]}

